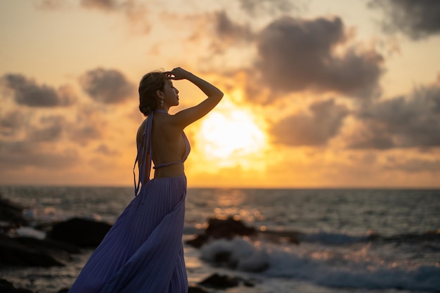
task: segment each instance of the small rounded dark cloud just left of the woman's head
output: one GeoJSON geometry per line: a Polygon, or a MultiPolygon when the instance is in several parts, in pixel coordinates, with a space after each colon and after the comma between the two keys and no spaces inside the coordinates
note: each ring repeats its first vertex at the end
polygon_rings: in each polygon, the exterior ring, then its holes
{"type": "Polygon", "coordinates": [[[120,103],[136,94],[134,84],[117,70],[91,70],[86,72],[79,82],[84,91],[100,103],[120,103]]]}

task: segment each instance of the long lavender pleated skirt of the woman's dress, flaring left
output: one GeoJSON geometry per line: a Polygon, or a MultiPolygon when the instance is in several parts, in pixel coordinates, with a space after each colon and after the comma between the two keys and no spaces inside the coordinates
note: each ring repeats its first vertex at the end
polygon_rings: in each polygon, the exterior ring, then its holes
{"type": "Polygon", "coordinates": [[[186,293],[186,177],[157,178],[124,209],[69,293],[186,293]]]}

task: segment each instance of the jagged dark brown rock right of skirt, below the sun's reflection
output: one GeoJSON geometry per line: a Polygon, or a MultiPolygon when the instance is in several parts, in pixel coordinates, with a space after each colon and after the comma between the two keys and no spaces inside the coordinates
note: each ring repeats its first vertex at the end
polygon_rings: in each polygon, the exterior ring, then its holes
{"type": "Polygon", "coordinates": [[[186,243],[193,247],[200,248],[210,239],[232,239],[233,237],[255,235],[257,230],[253,227],[248,227],[242,221],[233,219],[232,216],[226,220],[209,219],[208,228],[205,233],[198,235],[193,240],[188,240],[186,243]]]}

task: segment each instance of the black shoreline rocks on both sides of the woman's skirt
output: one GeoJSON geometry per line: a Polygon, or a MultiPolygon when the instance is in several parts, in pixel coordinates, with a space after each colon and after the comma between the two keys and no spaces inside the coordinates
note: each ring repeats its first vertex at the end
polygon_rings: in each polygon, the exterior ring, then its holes
{"type": "MultiPolygon", "coordinates": [[[[57,223],[36,223],[34,219],[26,219],[19,204],[2,199],[0,196],[0,265],[1,266],[68,266],[72,254],[79,254],[84,248],[97,247],[112,225],[90,219],[73,218],[57,223]],[[32,223],[32,226],[31,226],[32,223]],[[45,237],[27,237],[15,233],[20,228],[29,227],[41,231],[45,237]]],[[[242,221],[229,217],[228,219],[208,219],[208,226],[199,235],[186,242],[196,248],[201,248],[211,240],[231,240],[235,236],[264,237],[273,241],[288,241],[298,243],[295,233],[276,233],[260,231],[246,226],[242,221]]],[[[228,263],[233,268],[231,256],[219,252],[212,259],[215,266],[228,263]]],[[[254,268],[256,272],[264,271],[268,263],[254,268]]],[[[205,280],[191,284],[189,293],[205,293],[209,289],[227,289],[237,286],[252,287],[250,280],[228,276],[210,275],[205,280]]],[[[58,293],[67,292],[61,289],[58,293]]],[[[15,288],[8,280],[0,279],[0,292],[33,293],[29,289],[15,288]]]]}

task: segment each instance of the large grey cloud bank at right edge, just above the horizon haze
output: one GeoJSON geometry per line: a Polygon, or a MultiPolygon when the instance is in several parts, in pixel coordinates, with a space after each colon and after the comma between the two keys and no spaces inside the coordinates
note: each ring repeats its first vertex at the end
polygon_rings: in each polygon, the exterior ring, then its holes
{"type": "Polygon", "coordinates": [[[348,139],[351,148],[439,147],[440,84],[362,108],[356,117],[363,126],[348,139]]]}

